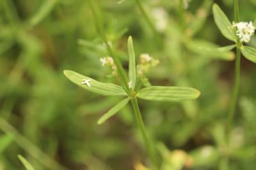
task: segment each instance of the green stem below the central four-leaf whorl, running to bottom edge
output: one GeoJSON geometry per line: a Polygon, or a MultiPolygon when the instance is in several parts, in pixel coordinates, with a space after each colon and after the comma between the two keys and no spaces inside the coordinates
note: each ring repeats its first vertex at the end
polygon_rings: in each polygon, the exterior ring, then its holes
{"type": "Polygon", "coordinates": [[[146,132],[146,128],[145,128],[143,119],[141,117],[140,107],[138,105],[137,98],[136,97],[132,98],[131,102],[132,102],[132,107],[135,114],[137,125],[140,128],[141,134],[143,136],[143,140],[147,147],[148,154],[150,155],[150,160],[152,164],[154,164],[154,169],[159,169],[159,161],[157,160],[157,157],[156,157],[156,151],[154,149],[153,142],[150,140],[146,132]]]}

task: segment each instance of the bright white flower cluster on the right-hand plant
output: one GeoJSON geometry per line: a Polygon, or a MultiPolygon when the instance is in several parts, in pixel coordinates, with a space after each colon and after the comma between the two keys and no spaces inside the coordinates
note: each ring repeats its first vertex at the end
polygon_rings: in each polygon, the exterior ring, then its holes
{"type": "Polygon", "coordinates": [[[251,36],[254,34],[255,26],[250,22],[233,22],[233,27],[236,30],[236,35],[241,42],[250,42],[251,36]]]}

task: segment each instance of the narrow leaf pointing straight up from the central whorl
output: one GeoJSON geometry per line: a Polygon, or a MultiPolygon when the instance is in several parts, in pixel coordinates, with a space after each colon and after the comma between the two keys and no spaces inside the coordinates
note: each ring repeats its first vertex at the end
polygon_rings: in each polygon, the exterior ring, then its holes
{"type": "Polygon", "coordinates": [[[129,81],[131,83],[131,88],[134,89],[136,83],[136,63],[135,54],[132,44],[132,37],[128,38],[128,54],[129,54],[129,81]]]}

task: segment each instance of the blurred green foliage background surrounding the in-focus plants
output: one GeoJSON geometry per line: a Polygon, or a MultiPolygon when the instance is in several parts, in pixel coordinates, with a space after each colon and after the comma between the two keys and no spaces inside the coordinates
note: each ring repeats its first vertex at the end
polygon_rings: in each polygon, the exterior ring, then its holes
{"type": "MultiPolygon", "coordinates": [[[[202,93],[182,104],[138,101],[163,169],[256,169],[256,65],[242,58],[241,91],[227,150],[225,121],[235,54],[198,50],[200,45],[232,44],[211,13],[212,3],[218,3],[232,21],[232,0],[142,3],[156,31],[135,1],[99,1],[108,40],[125,68],[131,35],[137,57],[148,53],[160,61],[148,73],[151,84],[191,86],[202,93]]],[[[241,20],[255,20],[256,1],[239,3],[241,20]]],[[[256,36],[249,45],[256,47],[256,36]]],[[[99,126],[98,118],[120,98],[84,91],[63,75],[63,70],[74,70],[117,83],[101,66],[99,59],[106,56],[88,1],[0,1],[0,169],[23,169],[18,154],[35,169],[148,167],[131,105],[99,126]]]]}

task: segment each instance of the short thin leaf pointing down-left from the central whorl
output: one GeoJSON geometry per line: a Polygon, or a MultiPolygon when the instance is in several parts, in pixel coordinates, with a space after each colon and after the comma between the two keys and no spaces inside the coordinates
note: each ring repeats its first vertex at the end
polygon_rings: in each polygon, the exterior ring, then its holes
{"type": "Polygon", "coordinates": [[[108,120],[109,118],[111,118],[112,116],[114,116],[116,112],[120,111],[120,109],[125,107],[125,105],[129,102],[129,100],[130,98],[125,98],[124,100],[119,102],[117,105],[115,105],[112,109],[106,112],[106,114],[100,117],[100,119],[98,120],[98,124],[100,125],[104,123],[106,120],[108,120]]]}

